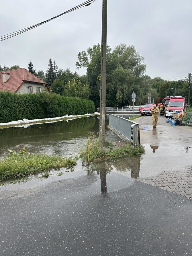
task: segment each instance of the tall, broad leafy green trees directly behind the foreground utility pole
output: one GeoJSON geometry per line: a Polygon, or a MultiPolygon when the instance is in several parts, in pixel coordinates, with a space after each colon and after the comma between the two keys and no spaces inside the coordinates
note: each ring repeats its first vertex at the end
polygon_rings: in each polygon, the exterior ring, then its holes
{"type": "MultiPolygon", "coordinates": [[[[91,96],[95,105],[99,105],[100,73],[101,73],[101,46],[94,45],[85,51],[79,52],[77,69],[87,68],[87,81],[90,85],[91,96]]],[[[136,92],[136,101],[140,100],[142,90],[139,89],[140,77],[145,73],[144,58],[136,52],[134,46],[120,44],[113,52],[107,46],[107,73],[106,73],[106,105],[125,104],[131,102],[131,94],[136,92]]],[[[137,102],[136,102],[137,103],[137,102]]]]}

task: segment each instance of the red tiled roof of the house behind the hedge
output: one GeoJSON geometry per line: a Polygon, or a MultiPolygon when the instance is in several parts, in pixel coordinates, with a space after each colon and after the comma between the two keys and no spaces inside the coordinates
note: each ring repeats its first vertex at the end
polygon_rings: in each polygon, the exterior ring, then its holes
{"type": "Polygon", "coordinates": [[[20,68],[20,69],[12,69],[12,70],[7,70],[5,72],[0,72],[0,91],[16,92],[25,81],[44,84],[47,86],[48,90],[50,90],[46,82],[36,77],[28,70],[24,68],[20,68]],[[6,83],[3,83],[3,73],[10,74],[10,78],[7,80],[6,83]]]}

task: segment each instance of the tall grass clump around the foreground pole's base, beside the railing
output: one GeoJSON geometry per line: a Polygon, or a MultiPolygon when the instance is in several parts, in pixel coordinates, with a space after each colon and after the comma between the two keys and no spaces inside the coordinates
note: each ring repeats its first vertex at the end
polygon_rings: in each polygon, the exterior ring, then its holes
{"type": "Polygon", "coordinates": [[[102,159],[119,158],[124,156],[140,156],[145,152],[144,147],[133,147],[130,143],[121,143],[120,146],[105,148],[100,150],[99,138],[94,133],[89,134],[85,150],[80,150],[80,157],[87,162],[97,161],[102,159]]]}

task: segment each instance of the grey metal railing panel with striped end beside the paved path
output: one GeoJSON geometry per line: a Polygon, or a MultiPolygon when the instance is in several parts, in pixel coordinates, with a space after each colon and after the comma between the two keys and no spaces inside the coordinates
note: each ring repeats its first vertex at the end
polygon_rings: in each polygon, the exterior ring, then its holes
{"type": "Polygon", "coordinates": [[[130,140],[133,146],[140,145],[139,124],[126,118],[109,114],[109,126],[130,140]]]}

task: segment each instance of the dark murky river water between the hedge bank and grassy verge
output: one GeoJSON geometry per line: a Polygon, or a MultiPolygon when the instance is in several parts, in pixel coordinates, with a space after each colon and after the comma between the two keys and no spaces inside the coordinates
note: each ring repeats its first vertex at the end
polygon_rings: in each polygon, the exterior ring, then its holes
{"type": "MultiPolygon", "coordinates": [[[[106,125],[109,120],[106,120],[106,125]]],[[[78,118],[31,125],[27,128],[12,127],[0,129],[0,157],[7,155],[8,150],[16,152],[26,146],[28,152],[46,153],[49,155],[74,155],[85,147],[88,132],[99,131],[97,116],[78,118]]],[[[111,130],[106,128],[106,144],[119,140],[111,130]]]]}

